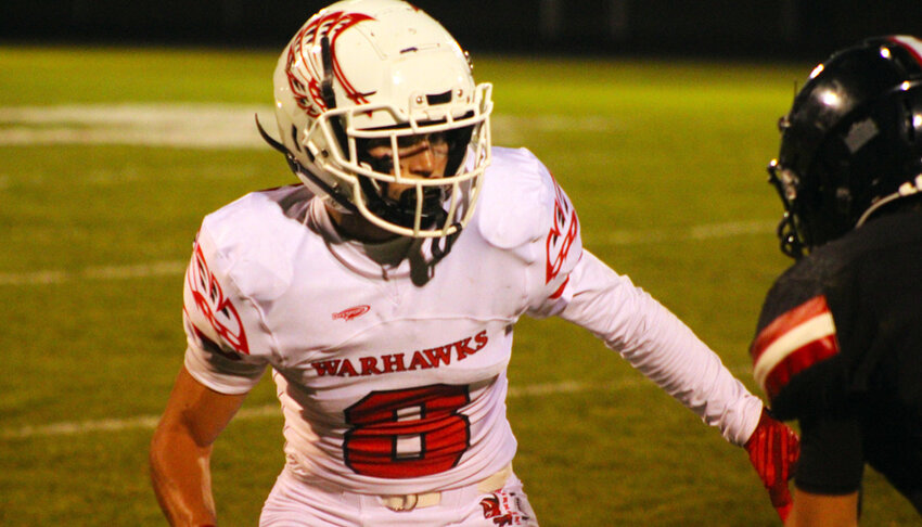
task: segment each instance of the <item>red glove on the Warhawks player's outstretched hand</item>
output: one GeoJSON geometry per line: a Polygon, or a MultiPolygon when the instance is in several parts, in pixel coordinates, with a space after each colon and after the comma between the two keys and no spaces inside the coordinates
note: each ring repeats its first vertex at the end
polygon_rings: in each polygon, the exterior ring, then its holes
{"type": "Polygon", "coordinates": [[[792,505],[787,480],[794,477],[801,457],[801,439],[791,427],[763,409],[758,426],[745,448],[750,453],[750,462],[768,490],[772,506],[778,511],[781,522],[784,522],[792,505]]]}

